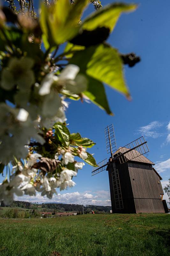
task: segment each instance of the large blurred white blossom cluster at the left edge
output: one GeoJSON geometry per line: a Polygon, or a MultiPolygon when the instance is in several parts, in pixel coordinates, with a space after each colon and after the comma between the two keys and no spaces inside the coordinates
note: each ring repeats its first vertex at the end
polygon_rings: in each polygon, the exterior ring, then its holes
{"type": "Polygon", "coordinates": [[[18,108],[11,108],[5,103],[0,103],[0,161],[4,164],[8,164],[14,155],[17,158],[26,158],[28,148],[25,145],[31,138],[41,144],[45,142],[37,133],[39,132],[35,128],[37,123],[32,121],[29,116],[26,121],[19,121],[17,119],[19,112],[18,108]]]}

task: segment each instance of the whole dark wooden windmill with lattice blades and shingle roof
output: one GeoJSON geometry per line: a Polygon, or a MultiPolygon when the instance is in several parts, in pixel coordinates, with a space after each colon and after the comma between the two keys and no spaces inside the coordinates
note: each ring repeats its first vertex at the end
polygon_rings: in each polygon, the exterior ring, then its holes
{"type": "Polygon", "coordinates": [[[144,137],[117,149],[113,124],[105,128],[105,136],[111,157],[93,167],[92,176],[108,171],[112,213],[164,213],[162,178],[143,156],[149,152],[144,137]]]}

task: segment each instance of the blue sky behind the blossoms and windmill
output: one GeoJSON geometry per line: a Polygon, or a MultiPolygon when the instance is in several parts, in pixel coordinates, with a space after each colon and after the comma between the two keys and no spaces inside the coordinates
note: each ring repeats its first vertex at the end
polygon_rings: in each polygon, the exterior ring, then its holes
{"type": "MultiPolygon", "coordinates": [[[[103,0],[106,5],[112,1],[103,0]]],[[[114,2],[114,1],[113,1],[114,2]]],[[[124,1],[131,3],[131,1],[124,1]]],[[[97,162],[108,157],[104,128],[114,124],[117,146],[124,146],[144,135],[150,152],[146,154],[163,178],[163,186],[170,177],[170,2],[165,0],[133,1],[139,4],[135,12],[123,14],[109,37],[108,43],[122,53],[135,52],[141,62],[133,68],[125,67],[125,80],[132,101],[106,86],[108,101],[115,116],[108,116],[97,106],[80,101],[70,101],[66,112],[71,132],[80,132],[97,144],[89,150],[97,162]]],[[[84,17],[93,11],[91,5],[84,17]]],[[[91,177],[91,166],[74,177],[77,185],[60,191],[52,201],[110,205],[107,171],[91,177]]],[[[46,197],[19,199],[49,202],[46,197]]],[[[167,196],[165,197],[167,199],[167,196]]]]}

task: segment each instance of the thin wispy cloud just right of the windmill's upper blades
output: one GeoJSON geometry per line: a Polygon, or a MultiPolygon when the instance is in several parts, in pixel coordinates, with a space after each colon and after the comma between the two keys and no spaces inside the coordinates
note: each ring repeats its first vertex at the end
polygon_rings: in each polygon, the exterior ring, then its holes
{"type": "Polygon", "coordinates": [[[152,137],[154,139],[161,137],[163,134],[158,132],[158,129],[163,126],[163,123],[153,121],[150,124],[142,126],[138,129],[137,133],[141,133],[145,137],[152,137]]]}

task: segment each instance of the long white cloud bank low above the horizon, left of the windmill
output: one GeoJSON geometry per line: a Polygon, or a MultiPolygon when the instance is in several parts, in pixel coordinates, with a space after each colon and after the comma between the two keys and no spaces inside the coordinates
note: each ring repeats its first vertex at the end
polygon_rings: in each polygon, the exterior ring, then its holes
{"type": "Polygon", "coordinates": [[[109,191],[100,190],[95,191],[93,194],[89,194],[86,191],[83,193],[72,192],[54,195],[50,200],[46,196],[41,196],[37,193],[36,196],[16,196],[15,200],[31,201],[31,202],[61,202],[66,204],[93,204],[93,205],[111,205],[109,191]],[[93,195],[94,194],[94,195],[93,195]],[[97,195],[96,195],[97,194],[97,195]]]}

